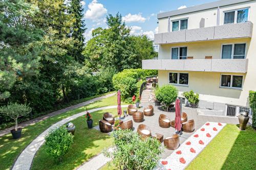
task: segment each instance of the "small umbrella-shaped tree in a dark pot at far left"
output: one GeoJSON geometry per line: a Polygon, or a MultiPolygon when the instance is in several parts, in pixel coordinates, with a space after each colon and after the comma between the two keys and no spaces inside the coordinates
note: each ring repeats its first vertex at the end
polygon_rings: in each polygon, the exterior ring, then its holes
{"type": "Polygon", "coordinates": [[[31,107],[28,105],[17,103],[10,103],[7,106],[0,107],[0,112],[8,115],[15,121],[15,129],[11,130],[13,139],[18,139],[22,136],[22,128],[18,128],[18,118],[29,114],[31,110],[31,107]]]}

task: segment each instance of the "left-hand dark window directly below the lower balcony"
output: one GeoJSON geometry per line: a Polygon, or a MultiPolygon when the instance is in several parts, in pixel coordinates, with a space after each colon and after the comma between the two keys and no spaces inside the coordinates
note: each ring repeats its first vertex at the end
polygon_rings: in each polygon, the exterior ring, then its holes
{"type": "Polygon", "coordinates": [[[169,83],[188,85],[188,74],[187,73],[170,72],[169,73],[169,83]]]}

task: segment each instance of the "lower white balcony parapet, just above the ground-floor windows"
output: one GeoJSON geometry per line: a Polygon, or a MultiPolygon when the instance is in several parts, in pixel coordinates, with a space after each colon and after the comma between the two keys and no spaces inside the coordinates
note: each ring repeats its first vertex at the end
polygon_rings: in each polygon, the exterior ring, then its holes
{"type": "Polygon", "coordinates": [[[142,60],[143,69],[246,73],[248,59],[142,60]]]}

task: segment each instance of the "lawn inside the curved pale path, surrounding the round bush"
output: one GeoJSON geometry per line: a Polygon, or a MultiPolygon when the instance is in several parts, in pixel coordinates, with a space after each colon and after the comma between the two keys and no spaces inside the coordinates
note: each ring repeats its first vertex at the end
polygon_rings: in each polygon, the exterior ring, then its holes
{"type": "MultiPolygon", "coordinates": [[[[123,108],[124,109],[124,108],[123,108]]],[[[93,112],[94,126],[98,125],[99,119],[102,118],[104,112],[110,112],[116,115],[117,109],[100,110],[93,112]]],[[[38,150],[32,163],[32,170],[40,169],[74,169],[81,165],[84,161],[88,161],[91,157],[99,154],[103,148],[110,147],[113,143],[112,137],[103,134],[94,129],[88,129],[84,116],[80,116],[72,123],[76,126],[74,143],[69,152],[63,157],[62,161],[56,163],[49,157],[46,151],[46,145],[38,150]]]]}

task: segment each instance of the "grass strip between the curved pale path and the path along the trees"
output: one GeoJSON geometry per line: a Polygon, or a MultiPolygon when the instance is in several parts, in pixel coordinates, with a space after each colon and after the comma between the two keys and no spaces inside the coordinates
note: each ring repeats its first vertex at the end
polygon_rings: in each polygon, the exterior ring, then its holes
{"type": "MultiPolygon", "coordinates": [[[[122,103],[125,104],[125,103],[122,103]]],[[[98,107],[104,106],[113,106],[117,105],[116,95],[111,96],[110,98],[105,98],[100,101],[94,102],[87,106],[88,110],[98,107]]],[[[11,134],[7,134],[0,137],[0,169],[10,169],[12,164],[18,155],[27,147],[27,145],[35,139],[39,134],[44,132],[51,125],[59,122],[63,118],[69,117],[71,115],[82,112],[86,109],[86,107],[80,107],[53,117],[49,117],[48,119],[38,122],[34,125],[30,125],[23,129],[22,137],[14,140],[12,139],[11,134]]],[[[97,119],[96,121],[97,122],[97,119]]]]}

